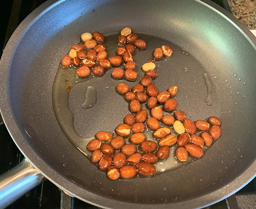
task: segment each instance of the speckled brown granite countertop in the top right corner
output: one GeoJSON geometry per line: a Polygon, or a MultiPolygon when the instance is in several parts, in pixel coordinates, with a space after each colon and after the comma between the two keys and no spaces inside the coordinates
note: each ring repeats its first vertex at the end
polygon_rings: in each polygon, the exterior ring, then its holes
{"type": "Polygon", "coordinates": [[[256,0],[229,0],[233,15],[250,30],[256,30],[256,0]]]}

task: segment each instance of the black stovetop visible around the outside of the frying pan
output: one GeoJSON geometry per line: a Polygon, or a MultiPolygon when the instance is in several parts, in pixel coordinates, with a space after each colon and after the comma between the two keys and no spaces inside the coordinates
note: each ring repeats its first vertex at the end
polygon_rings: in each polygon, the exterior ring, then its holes
{"type": "MultiPolygon", "coordinates": [[[[0,48],[4,48],[11,34],[20,22],[46,0],[8,0],[1,4],[0,48]]],[[[228,0],[212,0],[231,12],[228,0]]],[[[0,51],[0,56],[2,51],[0,51]]],[[[0,174],[20,163],[23,155],[14,144],[0,117],[0,174]]],[[[50,181],[41,183],[27,192],[7,209],[80,209],[97,208],[77,198],[70,197],[50,181]]],[[[253,209],[256,208],[256,178],[236,194],[206,209],[253,209]]]]}

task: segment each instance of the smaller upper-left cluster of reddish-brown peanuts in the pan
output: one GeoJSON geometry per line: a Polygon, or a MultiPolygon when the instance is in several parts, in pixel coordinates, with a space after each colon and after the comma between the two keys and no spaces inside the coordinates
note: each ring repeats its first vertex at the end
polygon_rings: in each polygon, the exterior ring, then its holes
{"type": "Polygon", "coordinates": [[[116,51],[117,55],[108,59],[107,48],[102,45],[105,38],[101,33],[83,33],[81,39],[84,45],[76,44],[72,46],[69,54],[61,60],[63,67],[73,65],[75,68],[78,68],[76,76],[86,78],[91,73],[94,76],[102,76],[111,66],[118,67],[124,61],[125,72],[121,68],[116,68],[112,72],[112,77],[117,79],[125,77],[128,81],[136,80],[137,72],[134,71],[135,62],[133,54],[135,47],[141,50],[146,49],[146,42],[139,39],[137,34],[132,33],[130,28],[126,27],[121,31],[121,35],[118,37],[118,45],[120,47],[116,51]],[[124,47],[125,45],[126,47],[124,47]]]}

